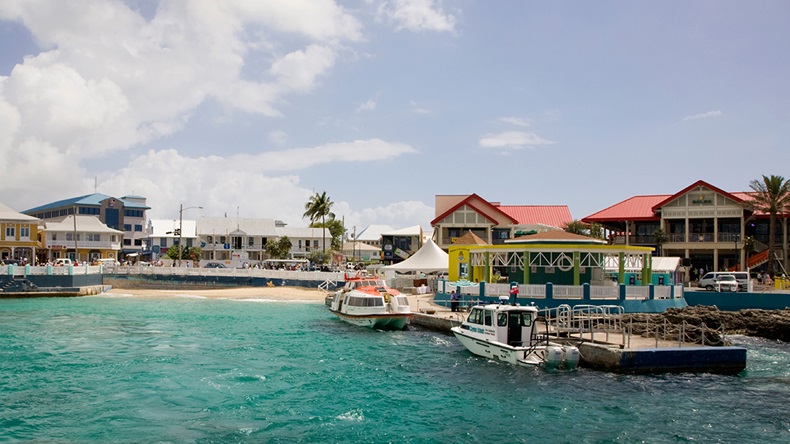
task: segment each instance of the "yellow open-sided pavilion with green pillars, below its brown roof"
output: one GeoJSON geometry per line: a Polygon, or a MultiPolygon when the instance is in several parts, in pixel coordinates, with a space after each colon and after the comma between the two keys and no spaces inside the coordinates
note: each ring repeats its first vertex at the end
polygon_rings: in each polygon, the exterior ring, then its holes
{"type": "Polygon", "coordinates": [[[650,247],[593,243],[454,245],[448,251],[448,278],[489,283],[504,277],[520,284],[601,284],[607,279],[607,260],[615,257],[618,283],[646,286],[653,283],[652,252],[650,247]],[[641,267],[638,283],[626,280],[626,270],[635,264],[641,267]]]}

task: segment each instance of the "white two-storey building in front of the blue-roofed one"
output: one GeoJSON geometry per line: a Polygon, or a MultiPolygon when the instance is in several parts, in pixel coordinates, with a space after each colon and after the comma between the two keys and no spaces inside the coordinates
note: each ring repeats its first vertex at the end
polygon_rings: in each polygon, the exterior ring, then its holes
{"type": "Polygon", "coordinates": [[[123,231],[108,227],[96,216],[69,215],[45,220],[43,225],[47,261],[69,258],[83,263],[119,258],[123,231]]]}

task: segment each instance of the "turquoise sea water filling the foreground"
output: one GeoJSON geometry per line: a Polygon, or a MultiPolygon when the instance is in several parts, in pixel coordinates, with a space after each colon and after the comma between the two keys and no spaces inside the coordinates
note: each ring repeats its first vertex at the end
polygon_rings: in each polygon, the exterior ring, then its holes
{"type": "Polygon", "coordinates": [[[0,300],[0,442],[790,442],[790,347],[738,376],[517,368],[322,304],[0,300]]]}

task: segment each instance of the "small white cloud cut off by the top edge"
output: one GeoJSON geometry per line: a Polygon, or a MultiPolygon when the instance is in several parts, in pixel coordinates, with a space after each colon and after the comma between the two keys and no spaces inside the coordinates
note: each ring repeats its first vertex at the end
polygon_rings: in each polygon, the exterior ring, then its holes
{"type": "Polygon", "coordinates": [[[445,14],[441,3],[441,0],[385,0],[379,4],[378,16],[391,21],[399,31],[454,32],[456,19],[445,14]]]}

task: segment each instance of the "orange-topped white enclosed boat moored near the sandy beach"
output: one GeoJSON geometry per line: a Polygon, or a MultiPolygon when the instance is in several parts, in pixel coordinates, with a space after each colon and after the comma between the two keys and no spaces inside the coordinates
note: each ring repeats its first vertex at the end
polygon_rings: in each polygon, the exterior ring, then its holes
{"type": "Polygon", "coordinates": [[[378,330],[402,330],[412,317],[406,296],[384,280],[364,275],[346,278],[329,301],[329,310],[350,324],[378,330]]]}

